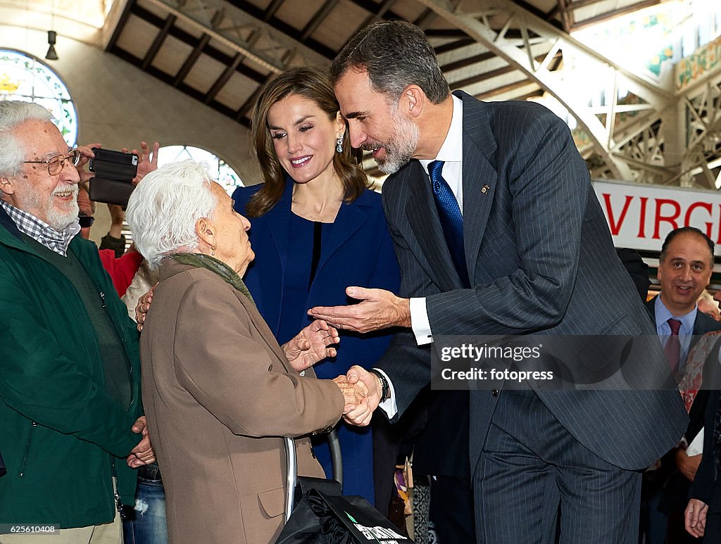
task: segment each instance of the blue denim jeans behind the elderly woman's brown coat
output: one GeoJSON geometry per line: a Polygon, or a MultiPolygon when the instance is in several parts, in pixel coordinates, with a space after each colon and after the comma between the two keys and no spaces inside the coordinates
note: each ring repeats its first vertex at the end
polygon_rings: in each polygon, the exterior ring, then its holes
{"type": "Polygon", "coordinates": [[[138,468],[133,515],[123,520],[124,544],[167,544],[165,492],[158,465],[138,468]]]}

